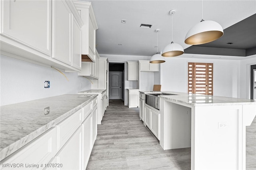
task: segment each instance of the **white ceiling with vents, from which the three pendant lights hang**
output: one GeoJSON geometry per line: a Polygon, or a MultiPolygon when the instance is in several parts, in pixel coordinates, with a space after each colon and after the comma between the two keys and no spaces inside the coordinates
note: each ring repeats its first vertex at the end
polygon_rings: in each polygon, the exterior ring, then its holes
{"type": "MultiPolygon", "coordinates": [[[[186,33],[202,19],[202,0],[84,1],[92,2],[98,24],[96,48],[100,54],[152,56],[157,52],[156,29],[160,29],[158,52],[162,51],[172,41],[172,16],[169,15],[172,9],[176,10],[173,41],[186,49],[190,46],[184,43],[186,33]],[[126,20],[126,24],[121,20],[126,20]],[[140,24],[152,27],[140,28],[140,24]]],[[[253,14],[256,14],[256,0],[203,1],[203,19],[216,21],[223,29],[253,14]]]]}

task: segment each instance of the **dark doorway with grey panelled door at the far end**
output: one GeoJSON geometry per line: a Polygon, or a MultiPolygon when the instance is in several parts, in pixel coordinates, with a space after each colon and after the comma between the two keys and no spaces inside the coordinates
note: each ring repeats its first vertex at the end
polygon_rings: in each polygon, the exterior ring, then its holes
{"type": "Polygon", "coordinates": [[[124,100],[124,63],[109,63],[109,99],[124,100]]]}

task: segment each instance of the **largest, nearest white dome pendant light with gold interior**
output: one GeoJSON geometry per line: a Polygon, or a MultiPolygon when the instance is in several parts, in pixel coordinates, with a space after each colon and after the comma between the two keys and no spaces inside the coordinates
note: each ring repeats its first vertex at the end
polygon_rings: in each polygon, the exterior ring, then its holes
{"type": "MultiPolygon", "coordinates": [[[[202,18],[203,18],[203,0],[202,0],[202,18]]],[[[217,40],[223,36],[223,28],[218,22],[204,21],[190,28],[185,37],[185,43],[190,45],[199,45],[217,40]]]]}

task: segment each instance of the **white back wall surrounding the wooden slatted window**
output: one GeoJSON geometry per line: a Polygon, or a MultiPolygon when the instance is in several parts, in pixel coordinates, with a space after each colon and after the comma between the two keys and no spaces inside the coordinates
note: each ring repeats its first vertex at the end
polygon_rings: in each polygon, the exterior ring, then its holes
{"type": "Polygon", "coordinates": [[[161,64],[162,91],[188,92],[188,62],[213,63],[213,94],[238,97],[240,90],[239,60],[166,58],[166,62],[161,64]]]}

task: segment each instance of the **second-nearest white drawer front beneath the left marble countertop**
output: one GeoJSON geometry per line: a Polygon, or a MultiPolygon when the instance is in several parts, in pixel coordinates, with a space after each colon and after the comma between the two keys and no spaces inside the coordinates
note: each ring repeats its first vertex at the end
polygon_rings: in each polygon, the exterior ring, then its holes
{"type": "Polygon", "coordinates": [[[56,125],[58,129],[58,149],[61,148],[82,124],[82,109],[79,109],[56,125]]]}

